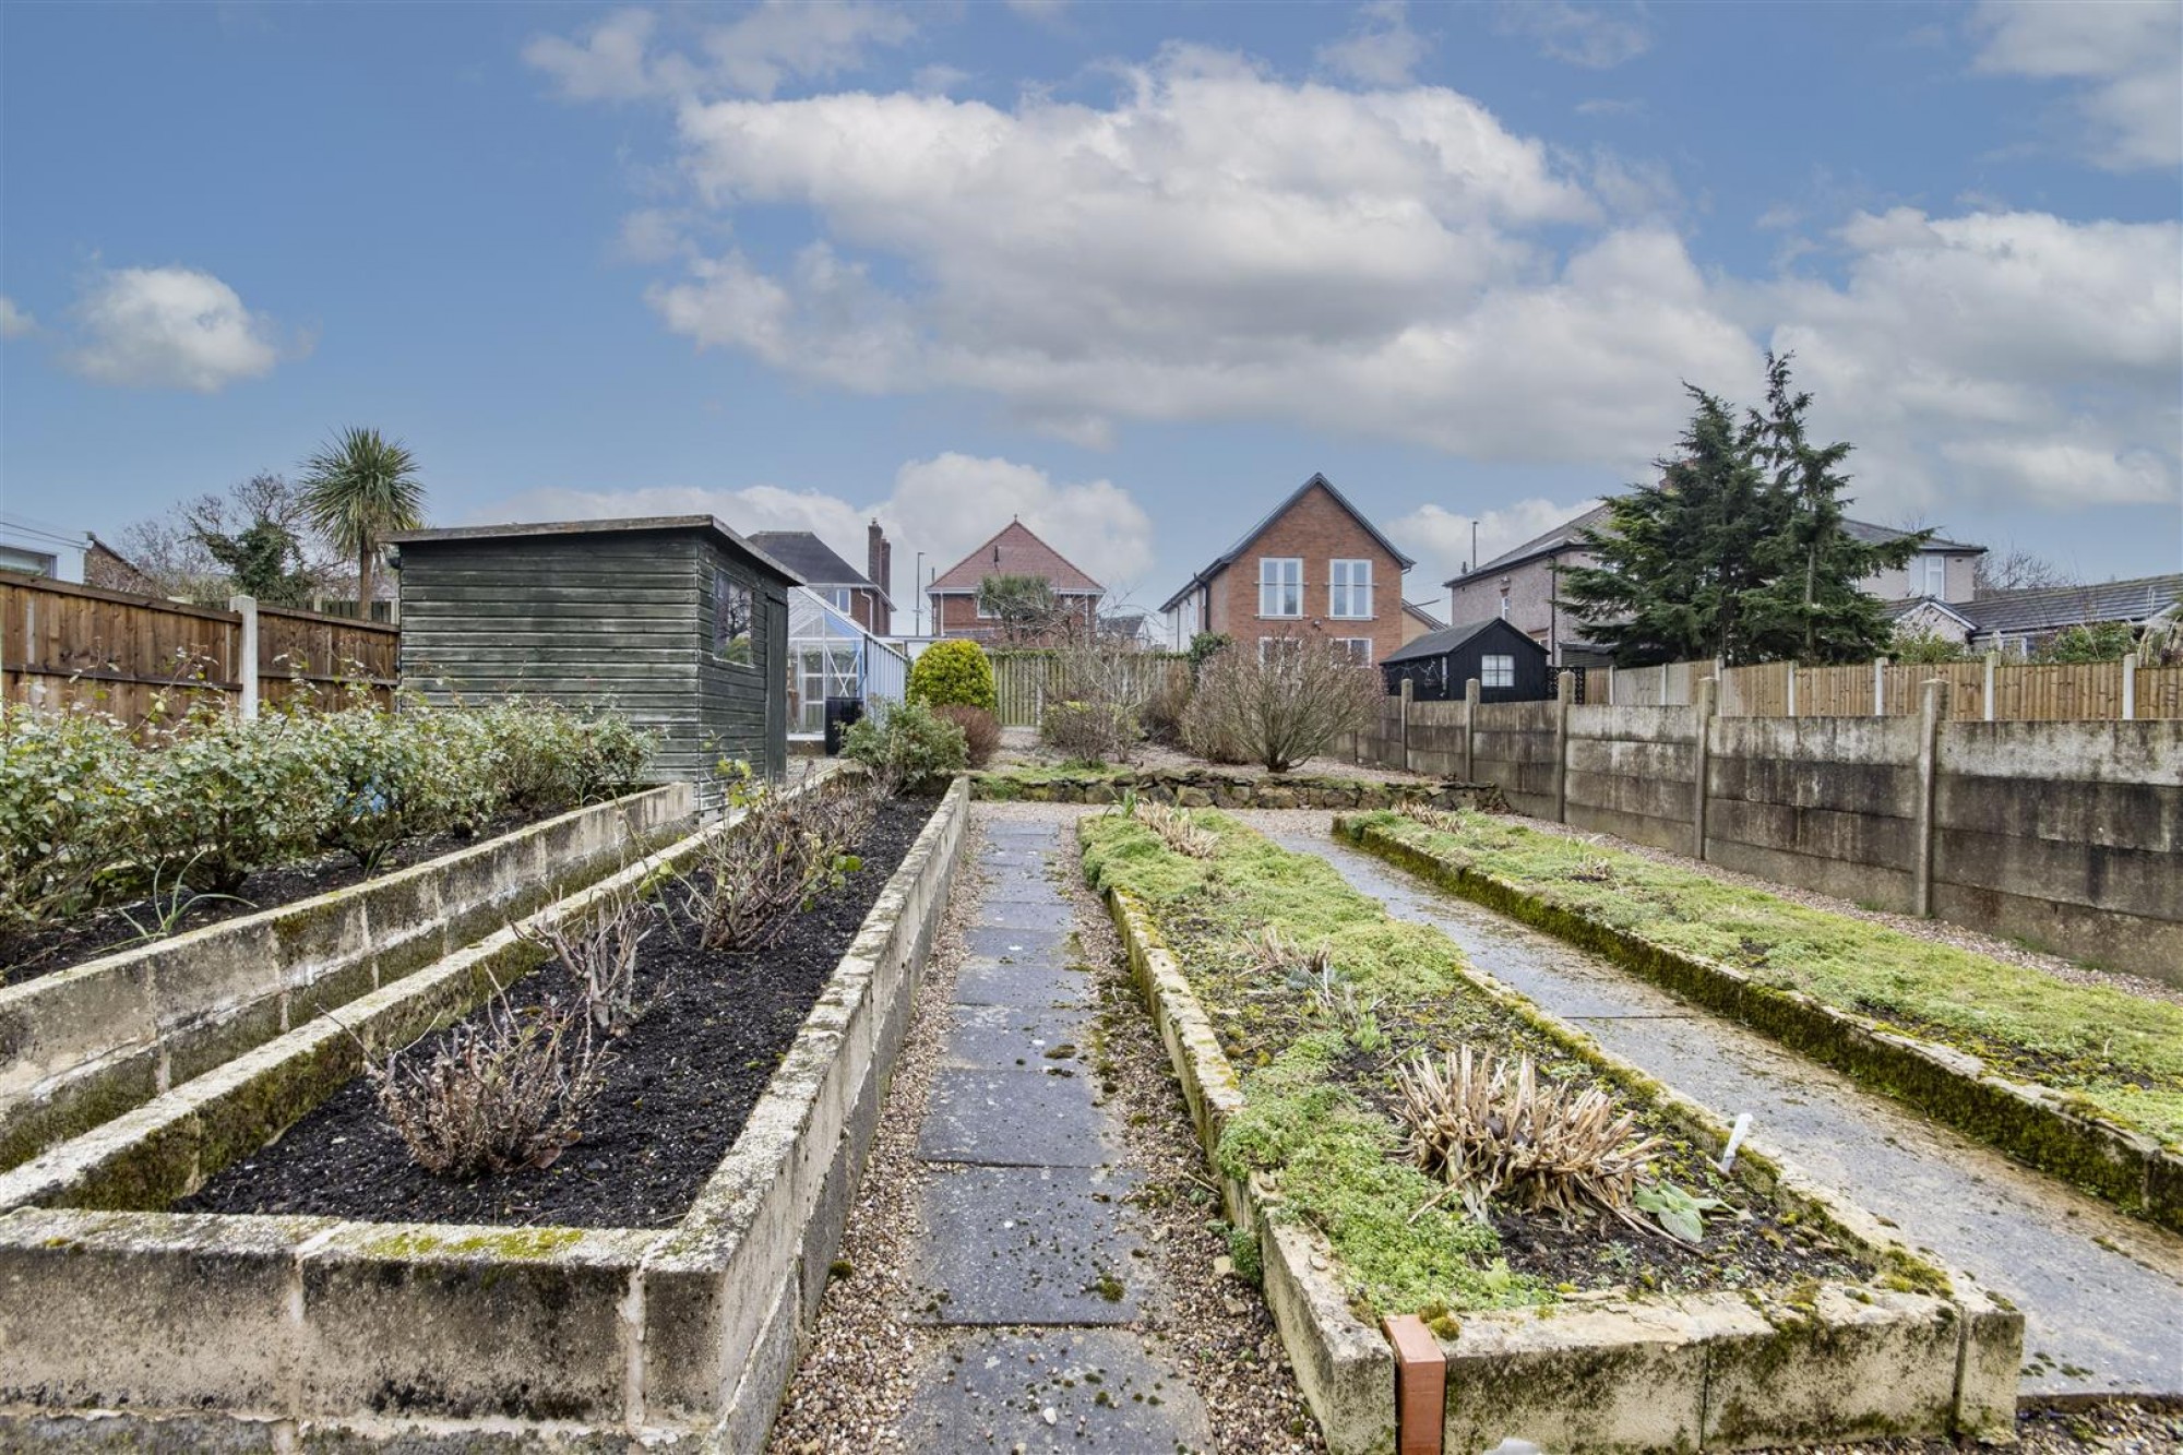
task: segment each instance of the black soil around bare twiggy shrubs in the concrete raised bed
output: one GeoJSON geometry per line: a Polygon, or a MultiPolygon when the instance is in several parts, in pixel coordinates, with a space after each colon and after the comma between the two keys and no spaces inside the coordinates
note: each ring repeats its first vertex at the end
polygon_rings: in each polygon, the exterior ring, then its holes
{"type": "MultiPolygon", "coordinates": [[[[613,1044],[605,1090],[583,1116],[583,1140],[550,1167],[476,1182],[437,1178],[410,1162],[371,1084],[356,1077],[282,1140],[236,1162],[175,1210],[561,1228],[675,1223],[727,1156],[930,815],[930,802],[884,804],[864,841],[862,867],[795,915],[771,950],[701,948],[696,926],[670,894],[640,959],[651,1009],[613,1044]]],[[[528,1007],[572,992],[554,961],[511,985],[509,998],[528,1007]]],[[[404,1055],[430,1055],[434,1044],[428,1038],[404,1055]]]]}

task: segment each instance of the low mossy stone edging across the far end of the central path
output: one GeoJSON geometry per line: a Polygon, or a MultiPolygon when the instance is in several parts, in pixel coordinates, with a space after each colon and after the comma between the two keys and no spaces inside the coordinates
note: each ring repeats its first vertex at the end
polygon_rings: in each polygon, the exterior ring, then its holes
{"type": "Polygon", "coordinates": [[[1375,778],[1312,778],[1299,773],[1222,773],[1220,769],[1142,769],[1122,773],[1035,776],[991,771],[969,776],[971,797],[1026,804],[1113,804],[1135,793],[1183,808],[1506,808],[1489,782],[1380,782],[1375,778]]]}

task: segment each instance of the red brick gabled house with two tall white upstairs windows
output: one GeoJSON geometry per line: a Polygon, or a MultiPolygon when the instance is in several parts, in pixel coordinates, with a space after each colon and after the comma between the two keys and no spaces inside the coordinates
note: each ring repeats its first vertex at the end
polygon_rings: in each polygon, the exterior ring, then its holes
{"type": "Polygon", "coordinates": [[[1415,564],[1314,474],[1159,610],[1177,649],[1198,631],[1249,647],[1316,627],[1373,664],[1408,636],[1401,572],[1415,564]]]}

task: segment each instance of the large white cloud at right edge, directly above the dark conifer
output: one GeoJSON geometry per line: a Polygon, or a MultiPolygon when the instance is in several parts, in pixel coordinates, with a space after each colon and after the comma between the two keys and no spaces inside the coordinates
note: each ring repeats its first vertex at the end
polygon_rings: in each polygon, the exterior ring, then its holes
{"type": "Polygon", "coordinates": [[[1856,214],[1847,282],[1757,299],[1873,505],[2176,498],[2183,225],[1856,214]]]}

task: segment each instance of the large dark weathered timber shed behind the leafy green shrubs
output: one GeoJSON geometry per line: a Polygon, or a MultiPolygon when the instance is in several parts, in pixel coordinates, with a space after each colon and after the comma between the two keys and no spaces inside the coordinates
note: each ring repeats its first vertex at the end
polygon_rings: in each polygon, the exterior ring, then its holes
{"type": "MultiPolygon", "coordinates": [[[[659,734],[653,776],[788,769],[788,588],[712,516],[393,535],[402,686],[432,703],[546,697],[659,734]]],[[[714,806],[705,802],[705,806],[714,806]]]]}

